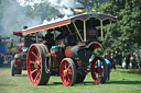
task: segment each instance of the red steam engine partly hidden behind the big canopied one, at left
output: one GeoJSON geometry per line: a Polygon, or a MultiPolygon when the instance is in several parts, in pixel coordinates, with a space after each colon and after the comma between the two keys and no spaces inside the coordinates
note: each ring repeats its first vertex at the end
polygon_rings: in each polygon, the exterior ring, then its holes
{"type": "MultiPolygon", "coordinates": [[[[26,28],[26,26],[24,26],[26,28]]],[[[26,54],[31,44],[35,43],[35,35],[22,35],[22,31],[13,32],[13,35],[19,36],[19,49],[15,51],[14,59],[11,61],[11,75],[21,74],[22,70],[26,69],[26,54]]]]}

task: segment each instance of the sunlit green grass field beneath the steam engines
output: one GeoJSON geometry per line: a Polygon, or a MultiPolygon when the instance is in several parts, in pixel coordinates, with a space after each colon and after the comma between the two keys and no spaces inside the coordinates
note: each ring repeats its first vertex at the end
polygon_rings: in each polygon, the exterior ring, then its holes
{"type": "Polygon", "coordinates": [[[59,77],[51,77],[46,85],[32,85],[26,71],[11,77],[10,68],[0,67],[0,93],[141,93],[141,74],[138,70],[117,69],[105,84],[96,84],[90,73],[83,83],[62,84],[59,77]]]}

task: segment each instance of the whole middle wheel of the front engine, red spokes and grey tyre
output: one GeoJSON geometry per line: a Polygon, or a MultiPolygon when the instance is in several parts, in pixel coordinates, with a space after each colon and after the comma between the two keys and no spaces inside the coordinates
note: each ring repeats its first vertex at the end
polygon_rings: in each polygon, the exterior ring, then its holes
{"type": "Polygon", "coordinates": [[[76,81],[76,67],[70,58],[64,58],[59,67],[59,75],[62,82],[66,86],[70,86],[76,81]]]}

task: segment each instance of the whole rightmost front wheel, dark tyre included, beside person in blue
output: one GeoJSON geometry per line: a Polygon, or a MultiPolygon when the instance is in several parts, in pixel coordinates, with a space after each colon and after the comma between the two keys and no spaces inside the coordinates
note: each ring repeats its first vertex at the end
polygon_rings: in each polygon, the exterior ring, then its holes
{"type": "Polygon", "coordinates": [[[91,77],[96,83],[105,83],[108,77],[108,67],[104,58],[96,57],[91,61],[91,77]]]}

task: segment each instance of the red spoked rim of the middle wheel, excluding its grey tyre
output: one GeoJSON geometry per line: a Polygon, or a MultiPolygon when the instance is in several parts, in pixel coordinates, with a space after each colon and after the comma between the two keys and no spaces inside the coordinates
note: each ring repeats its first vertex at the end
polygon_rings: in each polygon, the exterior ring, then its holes
{"type": "Polygon", "coordinates": [[[73,71],[70,63],[67,60],[62,61],[61,65],[61,79],[65,85],[69,85],[73,79],[73,71]]]}

